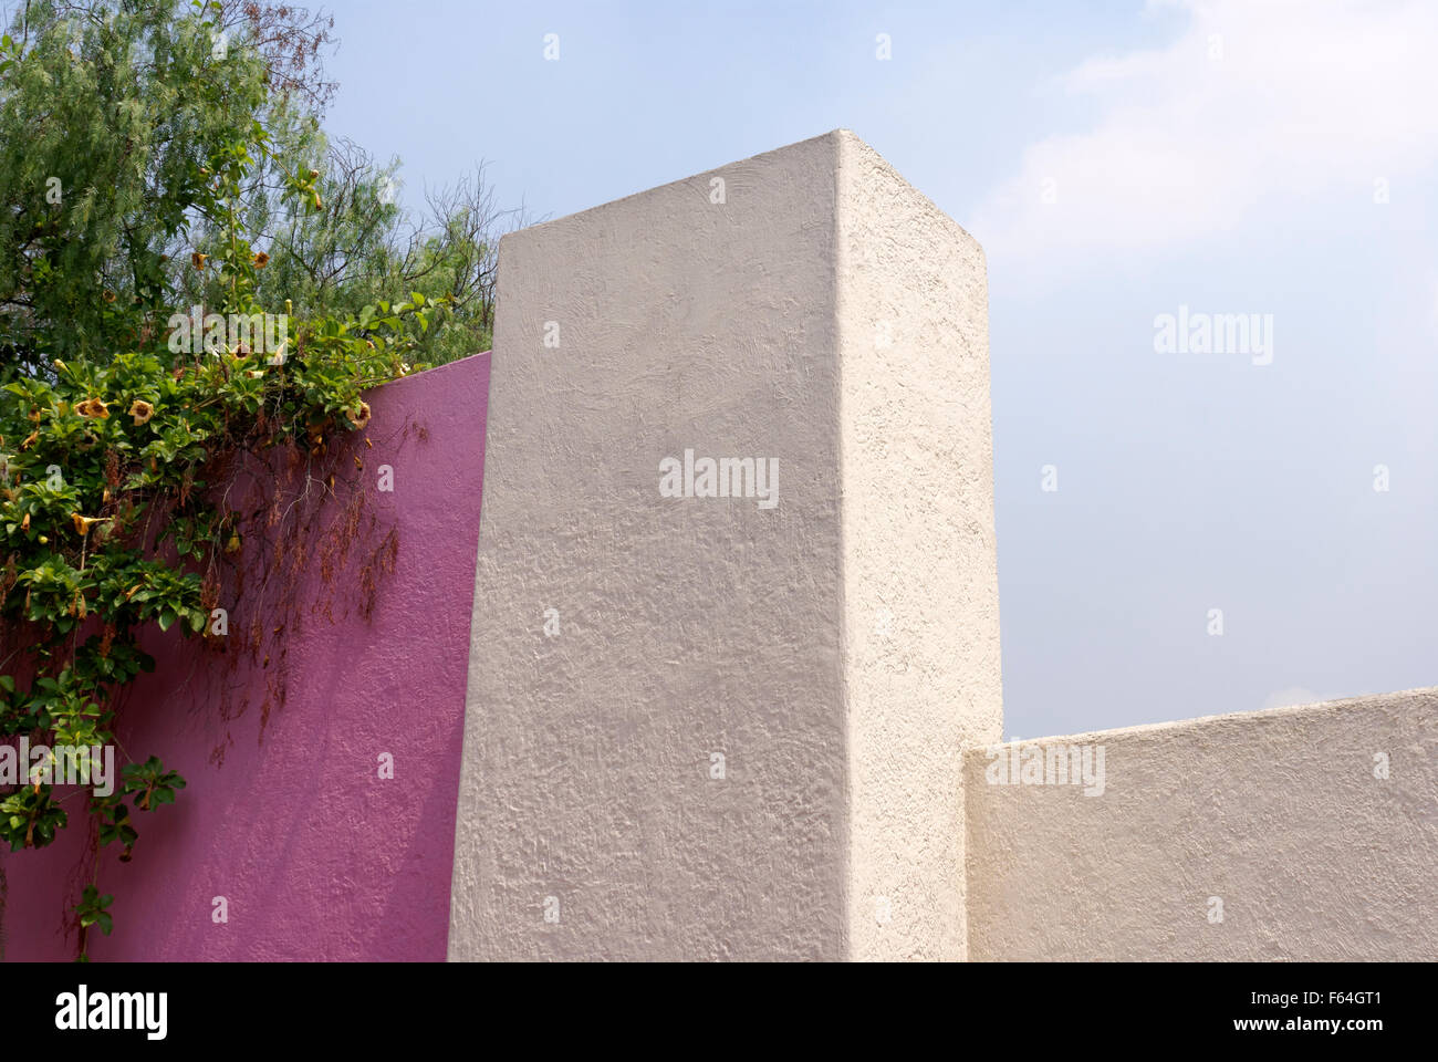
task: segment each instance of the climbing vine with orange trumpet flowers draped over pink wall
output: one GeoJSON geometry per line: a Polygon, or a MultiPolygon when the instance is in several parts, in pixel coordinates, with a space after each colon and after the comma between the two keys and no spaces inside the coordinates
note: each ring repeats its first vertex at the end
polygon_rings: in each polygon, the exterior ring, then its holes
{"type": "MultiPolygon", "coordinates": [[[[0,59],[3,71],[27,56],[6,37],[0,59]]],[[[367,389],[413,371],[434,308],[420,294],[303,318],[289,302],[262,305],[273,248],[252,243],[247,183],[283,174],[302,214],[324,209],[321,171],[290,164],[257,121],[211,141],[160,204],[167,232],[197,235],[180,265],[207,302],[171,305],[168,256],[135,253],[128,276],[93,278],[85,342],[56,322],[53,341],[32,328],[0,387],[0,840],[45,848],[88,827],[93,858],[73,909],[82,960],[89,932],[114,927],[99,850],[129,862],[147,817],[186,787],[162,750],[119,743],[122,694],[155,666],[142,635],[226,636],[237,602],[221,603],[221,587],[239,586],[226,568],[252,527],[242,505],[259,492],[278,511],[296,469],[334,496],[326,452],[370,423],[367,389]],[[118,777],[98,784],[104,750],[118,777]]],[[[22,289],[55,283],[66,219],[37,212],[22,289]]]]}

